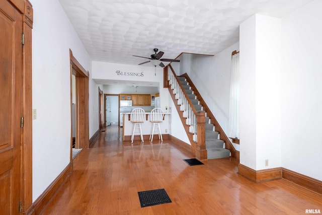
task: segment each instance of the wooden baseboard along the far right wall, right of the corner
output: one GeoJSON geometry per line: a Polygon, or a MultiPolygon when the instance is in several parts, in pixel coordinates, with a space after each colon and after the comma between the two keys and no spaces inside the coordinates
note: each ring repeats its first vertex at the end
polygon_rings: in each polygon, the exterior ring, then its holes
{"type": "Polygon", "coordinates": [[[322,195],[322,181],[302,175],[300,173],[282,168],[282,177],[292,183],[300,185],[305,189],[322,195]]]}

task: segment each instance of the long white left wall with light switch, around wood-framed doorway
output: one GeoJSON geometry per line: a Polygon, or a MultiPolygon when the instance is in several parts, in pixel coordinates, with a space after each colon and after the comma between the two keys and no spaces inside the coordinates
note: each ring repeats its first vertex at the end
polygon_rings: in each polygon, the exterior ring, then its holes
{"type": "MultiPolygon", "coordinates": [[[[33,24],[33,201],[69,164],[69,48],[91,73],[91,59],[59,2],[31,0],[33,24]]],[[[90,79],[90,137],[98,129],[98,86],[90,79]]]]}

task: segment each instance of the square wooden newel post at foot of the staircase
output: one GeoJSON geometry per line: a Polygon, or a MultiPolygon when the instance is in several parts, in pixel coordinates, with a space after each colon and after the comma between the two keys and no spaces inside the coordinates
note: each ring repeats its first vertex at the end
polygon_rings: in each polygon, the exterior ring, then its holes
{"type": "Polygon", "coordinates": [[[206,150],[206,114],[205,111],[197,113],[197,148],[196,158],[199,160],[207,159],[206,150]]]}

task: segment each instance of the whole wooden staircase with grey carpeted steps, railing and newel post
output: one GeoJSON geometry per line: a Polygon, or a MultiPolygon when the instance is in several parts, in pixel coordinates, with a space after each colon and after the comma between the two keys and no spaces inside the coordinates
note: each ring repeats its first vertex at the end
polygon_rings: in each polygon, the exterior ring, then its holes
{"type": "Polygon", "coordinates": [[[177,76],[171,65],[164,69],[165,87],[171,97],[189,137],[192,153],[199,160],[235,158],[235,149],[202,99],[189,76],[177,76]],[[171,71],[168,71],[168,67],[171,71]]]}

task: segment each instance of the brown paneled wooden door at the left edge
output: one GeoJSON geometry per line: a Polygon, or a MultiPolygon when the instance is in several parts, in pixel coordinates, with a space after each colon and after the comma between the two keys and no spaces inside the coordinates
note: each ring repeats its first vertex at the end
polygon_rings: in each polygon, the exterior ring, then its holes
{"type": "Polygon", "coordinates": [[[0,1],[0,208],[17,214],[22,199],[22,16],[0,1]]]}

